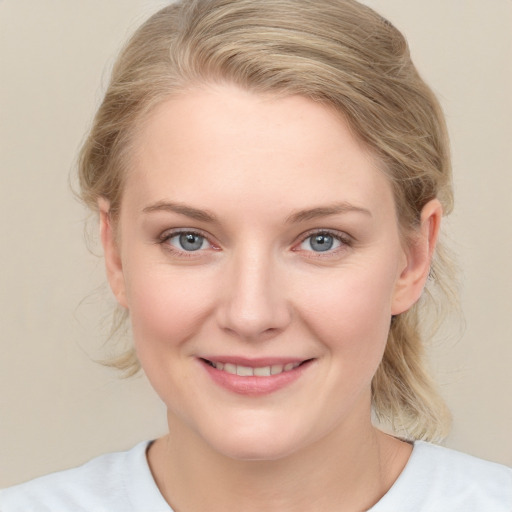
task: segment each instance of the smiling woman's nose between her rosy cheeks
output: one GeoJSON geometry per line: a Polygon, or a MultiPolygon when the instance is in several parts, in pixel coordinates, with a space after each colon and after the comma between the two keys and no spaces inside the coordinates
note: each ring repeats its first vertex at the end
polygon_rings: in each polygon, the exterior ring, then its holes
{"type": "Polygon", "coordinates": [[[253,341],[268,339],[286,329],[292,313],[283,286],[284,271],[271,255],[263,252],[249,250],[233,255],[221,281],[220,327],[253,341]]]}

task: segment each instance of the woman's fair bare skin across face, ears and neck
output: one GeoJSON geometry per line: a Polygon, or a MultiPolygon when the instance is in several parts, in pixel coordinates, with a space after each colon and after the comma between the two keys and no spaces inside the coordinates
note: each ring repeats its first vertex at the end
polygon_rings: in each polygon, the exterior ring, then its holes
{"type": "Polygon", "coordinates": [[[406,246],[387,178],[340,116],[229,85],[158,106],[133,164],[116,225],[99,201],[101,233],[168,409],[170,435],[148,453],[163,496],[180,512],[369,508],[411,452],[372,426],[370,384],[391,315],[423,290],[439,202],[406,246]],[[184,250],[176,230],[201,248],[184,250]],[[315,251],[319,233],[339,240],[315,251]],[[247,395],[201,363],[222,355],[310,362],[247,395]]]}

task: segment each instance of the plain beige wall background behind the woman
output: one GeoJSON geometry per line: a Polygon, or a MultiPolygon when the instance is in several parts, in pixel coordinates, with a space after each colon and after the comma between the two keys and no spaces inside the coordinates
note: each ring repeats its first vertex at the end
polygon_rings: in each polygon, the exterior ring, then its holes
{"type": "MultiPolygon", "coordinates": [[[[0,0],[0,487],[165,431],[144,377],[102,353],[101,261],[68,175],[127,34],[150,0],[0,0]]],[[[447,445],[512,465],[512,1],[368,1],[408,36],[445,107],[463,335],[436,341],[447,445]]]]}

